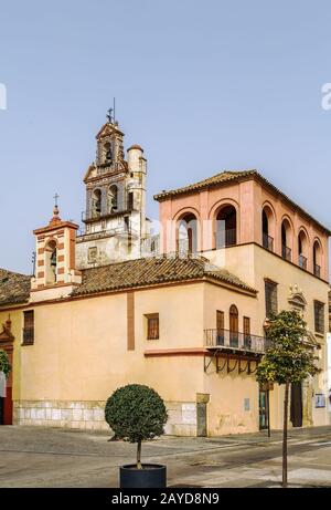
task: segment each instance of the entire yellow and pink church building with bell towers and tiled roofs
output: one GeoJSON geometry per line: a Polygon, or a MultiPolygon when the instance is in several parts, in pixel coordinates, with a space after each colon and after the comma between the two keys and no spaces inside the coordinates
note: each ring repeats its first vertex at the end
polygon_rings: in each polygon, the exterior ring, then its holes
{"type": "Polygon", "coordinates": [[[13,421],[107,429],[106,399],[140,383],[164,399],[167,434],[281,428],[284,388],[255,373],[270,313],[296,309],[321,373],[292,385],[290,426],[329,424],[329,229],[257,170],[225,170],[154,197],[146,257],[146,159],[137,145],[125,158],[122,138],[109,116],[85,176],[85,232],[55,205],[34,230],[28,296],[0,302],[22,323],[13,421]]]}

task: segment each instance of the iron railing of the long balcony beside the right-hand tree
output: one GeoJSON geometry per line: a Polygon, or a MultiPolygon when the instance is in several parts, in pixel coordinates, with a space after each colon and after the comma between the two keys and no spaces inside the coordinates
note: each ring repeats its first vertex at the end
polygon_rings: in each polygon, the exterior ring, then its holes
{"type": "Polygon", "coordinates": [[[204,342],[206,347],[254,354],[264,354],[269,346],[268,340],[264,336],[229,330],[204,330],[204,342]]]}

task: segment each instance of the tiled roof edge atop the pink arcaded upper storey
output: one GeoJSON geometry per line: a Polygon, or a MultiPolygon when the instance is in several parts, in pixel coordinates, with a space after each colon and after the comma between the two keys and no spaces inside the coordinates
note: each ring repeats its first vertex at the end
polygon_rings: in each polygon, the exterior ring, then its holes
{"type": "Polygon", "coordinates": [[[260,175],[255,169],[246,169],[246,170],[225,170],[216,174],[207,179],[200,180],[197,183],[191,184],[189,186],[184,186],[178,189],[170,189],[169,191],[162,191],[158,195],[154,195],[154,200],[162,201],[167,200],[171,197],[177,197],[178,195],[183,194],[191,194],[194,191],[199,191],[201,189],[206,189],[210,187],[214,187],[217,185],[226,185],[231,181],[238,181],[245,179],[256,179],[266,188],[268,188],[274,195],[278,196],[281,200],[289,204],[292,208],[297,209],[299,214],[306,217],[308,220],[313,221],[320,229],[322,229],[328,236],[331,236],[331,230],[321,225],[317,219],[314,219],[309,212],[302,209],[298,204],[292,201],[287,195],[285,195],[280,189],[276,188],[271,183],[269,183],[263,175],[260,175]]]}

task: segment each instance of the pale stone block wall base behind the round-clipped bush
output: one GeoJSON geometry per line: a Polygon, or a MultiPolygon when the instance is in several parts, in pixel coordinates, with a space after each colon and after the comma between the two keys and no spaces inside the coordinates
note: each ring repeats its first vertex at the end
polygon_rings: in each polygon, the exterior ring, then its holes
{"type": "MultiPolygon", "coordinates": [[[[13,403],[13,424],[43,427],[108,430],[104,400],[17,400],[13,403]]],[[[196,404],[166,403],[169,415],[166,434],[196,436],[196,404]]]]}

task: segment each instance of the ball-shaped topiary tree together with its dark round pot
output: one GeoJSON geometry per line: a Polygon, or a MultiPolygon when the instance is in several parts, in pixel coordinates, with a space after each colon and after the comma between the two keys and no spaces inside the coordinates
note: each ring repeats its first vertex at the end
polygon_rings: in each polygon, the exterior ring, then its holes
{"type": "Polygon", "coordinates": [[[166,466],[141,464],[141,443],[164,434],[168,415],[160,395],[141,384],[122,386],[108,398],[105,418],[118,439],[137,443],[137,462],[120,467],[120,488],[166,487],[166,466]]]}

